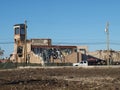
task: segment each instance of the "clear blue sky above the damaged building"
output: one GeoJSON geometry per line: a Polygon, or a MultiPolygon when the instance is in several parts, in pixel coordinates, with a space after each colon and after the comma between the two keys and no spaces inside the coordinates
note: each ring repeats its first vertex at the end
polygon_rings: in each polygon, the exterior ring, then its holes
{"type": "Polygon", "coordinates": [[[0,0],[0,11],[0,47],[6,56],[13,44],[1,42],[13,42],[13,25],[25,20],[28,39],[88,45],[90,51],[106,49],[109,21],[110,48],[120,50],[120,0],[0,0]]]}

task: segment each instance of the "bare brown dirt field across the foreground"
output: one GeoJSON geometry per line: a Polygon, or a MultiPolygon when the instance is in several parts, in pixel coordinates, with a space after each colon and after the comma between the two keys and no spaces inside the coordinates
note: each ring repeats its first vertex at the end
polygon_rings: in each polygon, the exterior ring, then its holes
{"type": "Polygon", "coordinates": [[[120,68],[1,70],[0,90],[120,90],[120,68]]]}

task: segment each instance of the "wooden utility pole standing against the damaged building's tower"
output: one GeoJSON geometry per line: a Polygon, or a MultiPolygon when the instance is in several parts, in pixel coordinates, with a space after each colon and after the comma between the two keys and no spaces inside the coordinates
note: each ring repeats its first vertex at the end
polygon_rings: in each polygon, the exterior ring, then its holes
{"type": "Polygon", "coordinates": [[[24,61],[27,64],[27,21],[25,20],[24,61]]]}

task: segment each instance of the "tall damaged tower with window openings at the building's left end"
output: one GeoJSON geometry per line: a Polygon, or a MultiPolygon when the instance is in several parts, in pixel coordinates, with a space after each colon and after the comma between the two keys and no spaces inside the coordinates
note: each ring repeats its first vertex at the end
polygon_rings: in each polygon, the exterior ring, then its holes
{"type": "Polygon", "coordinates": [[[15,24],[14,25],[14,42],[15,42],[15,53],[17,63],[27,63],[27,25],[15,24]]]}

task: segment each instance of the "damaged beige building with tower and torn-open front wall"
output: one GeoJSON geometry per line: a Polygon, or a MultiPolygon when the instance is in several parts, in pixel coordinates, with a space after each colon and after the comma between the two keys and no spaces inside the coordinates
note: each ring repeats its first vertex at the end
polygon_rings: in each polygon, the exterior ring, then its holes
{"type": "Polygon", "coordinates": [[[74,63],[82,60],[87,47],[52,45],[51,39],[26,38],[26,24],[14,25],[14,52],[10,58],[17,63],[74,63]]]}

